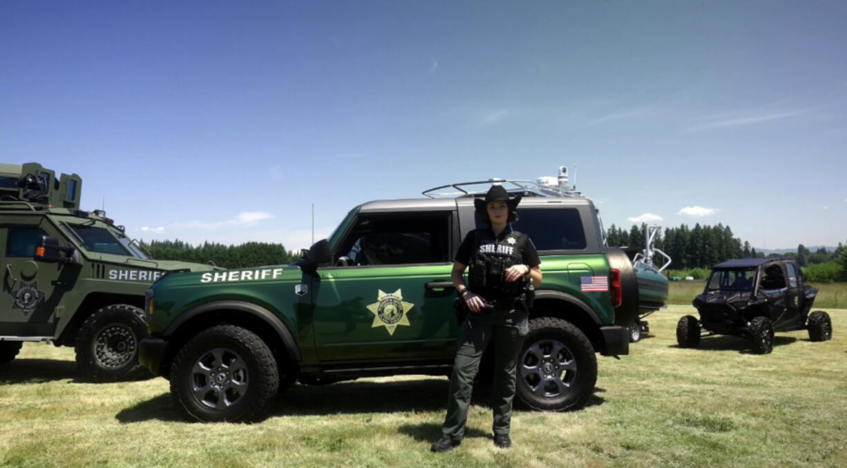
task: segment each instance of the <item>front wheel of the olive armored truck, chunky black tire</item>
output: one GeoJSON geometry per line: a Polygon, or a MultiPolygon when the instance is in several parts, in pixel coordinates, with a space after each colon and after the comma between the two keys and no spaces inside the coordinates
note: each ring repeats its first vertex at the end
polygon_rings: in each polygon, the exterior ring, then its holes
{"type": "Polygon", "coordinates": [[[76,336],[76,364],[94,382],[149,377],[138,363],[138,343],[147,336],[144,311],[114,304],[94,312],[76,336]]]}

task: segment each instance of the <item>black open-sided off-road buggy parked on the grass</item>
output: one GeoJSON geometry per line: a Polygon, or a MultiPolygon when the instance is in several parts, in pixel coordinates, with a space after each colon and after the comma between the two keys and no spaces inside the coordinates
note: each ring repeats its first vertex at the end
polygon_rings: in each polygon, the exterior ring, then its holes
{"type": "Polygon", "coordinates": [[[753,350],[773,350],[773,332],[809,331],[811,341],[833,336],[824,311],[811,311],[817,289],[803,283],[803,273],[789,258],[743,258],[711,270],[703,294],[694,300],[700,320],[685,316],[677,324],[677,342],[695,348],[701,336],[728,334],[750,339],[753,350]]]}

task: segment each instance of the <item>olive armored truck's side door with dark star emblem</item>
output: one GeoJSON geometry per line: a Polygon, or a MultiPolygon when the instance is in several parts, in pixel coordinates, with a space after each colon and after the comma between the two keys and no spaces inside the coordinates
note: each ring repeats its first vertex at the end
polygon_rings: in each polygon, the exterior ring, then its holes
{"type": "Polygon", "coordinates": [[[0,225],[3,291],[0,292],[0,334],[53,337],[61,313],[61,296],[75,278],[77,266],[33,260],[43,235],[59,239],[58,229],[42,216],[7,216],[0,225]]]}

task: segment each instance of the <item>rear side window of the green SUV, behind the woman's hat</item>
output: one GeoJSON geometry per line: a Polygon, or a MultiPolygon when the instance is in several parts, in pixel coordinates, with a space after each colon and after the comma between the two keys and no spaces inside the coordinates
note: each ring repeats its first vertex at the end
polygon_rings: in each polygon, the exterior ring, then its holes
{"type": "MultiPolygon", "coordinates": [[[[476,215],[477,228],[485,225],[476,215]]],[[[518,206],[518,222],[512,228],[527,234],[538,251],[581,251],[585,249],[582,217],[576,208],[545,209],[518,206]]]]}

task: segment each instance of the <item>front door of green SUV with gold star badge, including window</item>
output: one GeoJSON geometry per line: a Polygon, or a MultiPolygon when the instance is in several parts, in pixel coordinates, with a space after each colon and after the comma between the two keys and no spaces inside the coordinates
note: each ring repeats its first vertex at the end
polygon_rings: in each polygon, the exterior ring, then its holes
{"type": "Polygon", "coordinates": [[[313,283],[321,361],[450,358],[454,213],[357,214],[313,283]]]}

